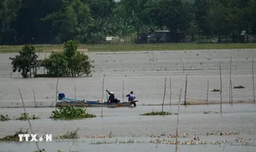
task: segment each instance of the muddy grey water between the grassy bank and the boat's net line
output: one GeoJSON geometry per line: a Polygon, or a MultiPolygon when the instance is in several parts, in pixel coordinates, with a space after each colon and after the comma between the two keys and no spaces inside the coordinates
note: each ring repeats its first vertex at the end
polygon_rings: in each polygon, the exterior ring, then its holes
{"type": "MultiPolygon", "coordinates": [[[[50,106],[55,100],[56,78],[18,78],[11,74],[9,57],[15,54],[0,54],[0,106],[17,106],[20,103],[18,87],[21,87],[27,106],[34,105],[33,89],[41,106],[50,106]],[[11,74],[11,75],[10,75],[11,74]],[[11,78],[10,78],[11,76],[11,78]]],[[[46,56],[49,54],[46,54],[46,56]]],[[[202,50],[169,52],[90,52],[94,59],[92,78],[60,78],[59,92],[66,97],[85,100],[101,99],[102,77],[104,90],[112,90],[122,99],[124,93],[133,90],[139,103],[162,103],[165,77],[171,76],[172,101],[178,101],[181,87],[184,90],[185,75],[188,74],[187,97],[206,99],[207,80],[210,90],[219,89],[219,62],[222,65],[222,100],[229,100],[229,60],[232,56],[232,85],[243,85],[245,89],[234,89],[233,100],[252,100],[251,58],[254,49],[202,50]]],[[[40,53],[40,59],[44,58],[40,53]]],[[[41,69],[43,71],[43,69],[41,69]]],[[[256,71],[256,70],[254,70],[256,71]]],[[[21,77],[21,76],[19,76],[21,77]]],[[[166,100],[169,100],[169,78],[166,100]]],[[[182,93],[184,99],[184,91],[182,93]]],[[[106,94],[104,95],[106,98],[106,94]]],[[[126,100],[126,98],[124,99],[126,100]]],[[[219,100],[219,93],[210,92],[209,100],[219,100]]]]}

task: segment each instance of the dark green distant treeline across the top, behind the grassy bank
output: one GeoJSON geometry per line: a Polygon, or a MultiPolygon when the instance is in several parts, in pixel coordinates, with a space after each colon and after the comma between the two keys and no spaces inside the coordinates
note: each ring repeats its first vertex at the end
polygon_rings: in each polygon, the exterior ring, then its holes
{"type": "Polygon", "coordinates": [[[95,44],[165,29],[173,42],[182,31],[239,43],[243,30],[256,33],[256,0],[0,0],[2,45],[95,44]]]}

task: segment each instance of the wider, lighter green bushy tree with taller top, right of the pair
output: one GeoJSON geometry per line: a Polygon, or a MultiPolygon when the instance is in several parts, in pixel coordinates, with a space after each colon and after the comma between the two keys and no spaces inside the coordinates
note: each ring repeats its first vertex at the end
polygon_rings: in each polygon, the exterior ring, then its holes
{"type": "Polygon", "coordinates": [[[91,74],[91,60],[88,55],[78,52],[78,42],[69,40],[64,43],[63,52],[53,52],[44,60],[48,74],[53,77],[80,77],[91,74]]]}

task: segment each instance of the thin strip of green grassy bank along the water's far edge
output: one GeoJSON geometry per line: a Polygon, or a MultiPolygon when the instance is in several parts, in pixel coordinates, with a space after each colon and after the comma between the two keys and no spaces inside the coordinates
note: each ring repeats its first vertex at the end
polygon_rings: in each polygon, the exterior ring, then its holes
{"type": "MultiPolygon", "coordinates": [[[[34,45],[37,52],[62,51],[63,45],[34,45]]],[[[0,52],[19,52],[22,46],[0,46],[0,52]]],[[[256,49],[256,43],[158,43],[158,44],[98,44],[79,46],[81,52],[157,51],[187,49],[256,49]]]]}

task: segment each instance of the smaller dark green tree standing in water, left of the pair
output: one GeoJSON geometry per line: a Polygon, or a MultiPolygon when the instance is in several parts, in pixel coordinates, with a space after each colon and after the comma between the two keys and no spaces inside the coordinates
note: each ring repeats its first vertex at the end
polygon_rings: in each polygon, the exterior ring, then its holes
{"type": "Polygon", "coordinates": [[[10,57],[12,71],[21,72],[23,78],[31,78],[31,69],[34,68],[38,58],[34,46],[26,44],[19,54],[20,55],[15,55],[14,58],[10,57]]]}

